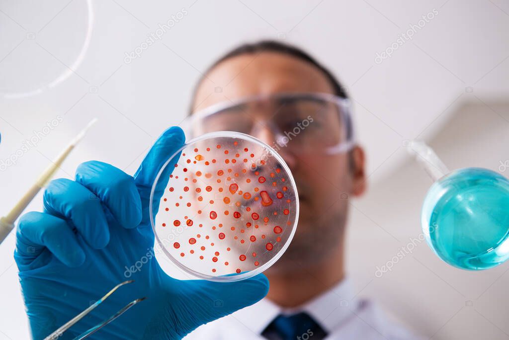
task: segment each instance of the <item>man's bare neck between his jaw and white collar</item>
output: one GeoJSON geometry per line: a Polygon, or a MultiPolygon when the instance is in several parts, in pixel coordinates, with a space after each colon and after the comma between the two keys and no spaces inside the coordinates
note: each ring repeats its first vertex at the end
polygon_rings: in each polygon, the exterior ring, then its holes
{"type": "Polygon", "coordinates": [[[284,272],[274,268],[266,275],[270,281],[269,300],[285,308],[300,306],[343,280],[343,249],[338,249],[319,263],[284,272]]]}

